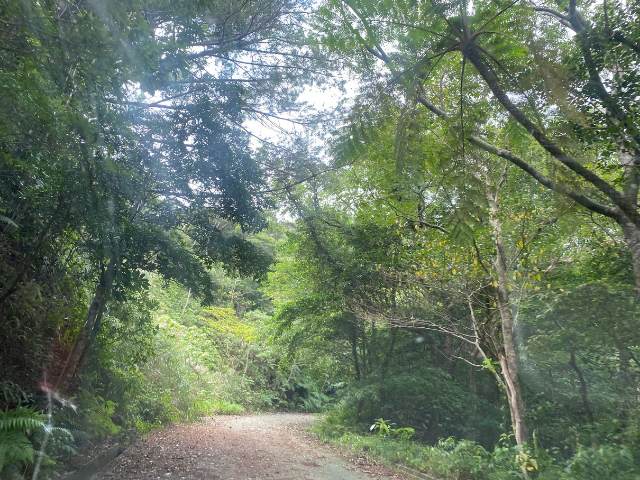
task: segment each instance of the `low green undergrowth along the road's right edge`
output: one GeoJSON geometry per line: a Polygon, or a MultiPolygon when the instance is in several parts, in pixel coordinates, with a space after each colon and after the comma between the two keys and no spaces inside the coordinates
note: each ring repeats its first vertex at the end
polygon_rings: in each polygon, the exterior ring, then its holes
{"type": "Polygon", "coordinates": [[[520,448],[503,436],[493,451],[470,440],[441,439],[422,445],[392,435],[359,432],[334,410],[311,431],[322,441],[362,453],[387,466],[402,465],[443,480],[638,480],[640,468],[624,446],[584,447],[568,461],[559,461],[535,445],[520,448]]]}

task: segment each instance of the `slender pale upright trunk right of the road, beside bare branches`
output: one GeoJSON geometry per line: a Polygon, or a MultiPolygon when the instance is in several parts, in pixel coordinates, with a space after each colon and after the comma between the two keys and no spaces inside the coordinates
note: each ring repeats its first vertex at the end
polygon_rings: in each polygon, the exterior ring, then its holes
{"type": "MultiPolygon", "coordinates": [[[[497,197],[497,194],[496,194],[497,197]]],[[[516,343],[514,339],[514,325],[511,317],[511,308],[509,305],[509,290],[507,288],[507,258],[502,237],[502,225],[498,216],[497,198],[493,195],[487,195],[489,201],[490,222],[493,227],[493,234],[496,245],[496,258],[494,265],[498,274],[498,286],[496,287],[498,311],[500,313],[500,321],[502,324],[502,340],[504,353],[498,355],[500,367],[502,369],[502,377],[504,378],[507,400],[509,402],[509,411],[518,445],[529,440],[530,431],[527,424],[527,414],[520,387],[518,375],[518,361],[516,355],[516,343]]]]}

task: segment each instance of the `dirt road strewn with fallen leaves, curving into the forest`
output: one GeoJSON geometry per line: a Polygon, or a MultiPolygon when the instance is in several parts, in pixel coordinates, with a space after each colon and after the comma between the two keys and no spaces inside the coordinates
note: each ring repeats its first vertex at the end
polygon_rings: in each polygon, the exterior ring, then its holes
{"type": "Polygon", "coordinates": [[[312,421],[312,415],[269,414],[172,425],[129,447],[92,479],[408,479],[320,443],[305,431],[312,421]]]}

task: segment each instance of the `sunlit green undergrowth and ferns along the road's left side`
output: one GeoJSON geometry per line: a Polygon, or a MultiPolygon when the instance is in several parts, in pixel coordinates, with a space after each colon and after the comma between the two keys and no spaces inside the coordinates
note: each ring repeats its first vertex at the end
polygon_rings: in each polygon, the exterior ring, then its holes
{"type": "Polygon", "coordinates": [[[202,307],[152,279],[148,297],[110,308],[71,398],[0,380],[0,480],[50,478],[79,449],[128,443],[172,422],[245,411],[318,411],[326,397],[299,368],[278,373],[267,314],[202,307]],[[51,411],[51,419],[47,411],[51,411]],[[50,420],[50,421],[49,421],[50,420]]]}

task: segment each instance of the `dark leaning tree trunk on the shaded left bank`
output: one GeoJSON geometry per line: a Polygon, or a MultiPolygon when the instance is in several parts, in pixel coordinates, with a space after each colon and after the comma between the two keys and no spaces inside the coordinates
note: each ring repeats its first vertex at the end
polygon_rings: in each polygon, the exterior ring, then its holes
{"type": "Polygon", "coordinates": [[[100,325],[100,319],[104,313],[105,303],[113,286],[115,274],[116,259],[112,258],[107,267],[102,268],[100,282],[96,288],[93,301],[89,305],[84,327],[71,348],[62,372],[54,386],[54,390],[60,395],[69,396],[74,393],[76,377],[82,373],[84,359],[86,359],[91,347],[94,329],[100,325]]]}

